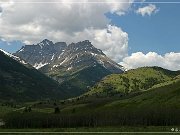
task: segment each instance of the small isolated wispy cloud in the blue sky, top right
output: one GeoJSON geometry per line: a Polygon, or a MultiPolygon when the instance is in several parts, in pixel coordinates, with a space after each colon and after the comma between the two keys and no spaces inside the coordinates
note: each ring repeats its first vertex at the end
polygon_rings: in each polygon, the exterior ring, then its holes
{"type": "Polygon", "coordinates": [[[138,10],[136,10],[136,13],[142,16],[145,16],[145,15],[151,16],[153,13],[157,13],[158,11],[159,9],[157,9],[156,5],[149,4],[148,6],[141,7],[138,10]]]}

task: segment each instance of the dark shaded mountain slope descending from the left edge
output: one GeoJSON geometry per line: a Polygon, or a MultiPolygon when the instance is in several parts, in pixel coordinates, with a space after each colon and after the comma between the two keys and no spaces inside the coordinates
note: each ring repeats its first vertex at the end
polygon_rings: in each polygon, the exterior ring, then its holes
{"type": "Polygon", "coordinates": [[[17,57],[0,51],[0,99],[30,101],[65,97],[59,84],[17,57]],[[17,59],[17,60],[16,60],[17,59]]]}

